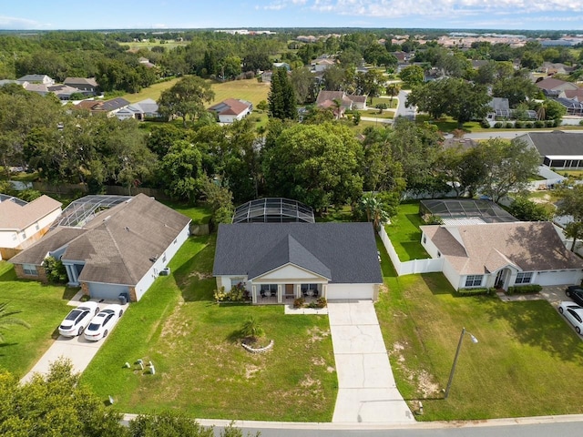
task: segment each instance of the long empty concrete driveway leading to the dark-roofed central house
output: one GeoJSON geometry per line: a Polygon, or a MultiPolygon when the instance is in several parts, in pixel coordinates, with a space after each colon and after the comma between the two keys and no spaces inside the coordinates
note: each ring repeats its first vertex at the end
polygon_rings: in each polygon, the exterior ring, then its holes
{"type": "Polygon", "coordinates": [[[338,372],[332,422],[415,422],[396,389],[373,302],[332,300],[328,317],[338,372]]]}

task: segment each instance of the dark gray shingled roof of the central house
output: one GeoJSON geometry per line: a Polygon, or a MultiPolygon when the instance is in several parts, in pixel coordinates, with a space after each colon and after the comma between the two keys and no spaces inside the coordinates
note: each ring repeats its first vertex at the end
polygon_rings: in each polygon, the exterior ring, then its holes
{"type": "Polygon", "coordinates": [[[252,279],[288,263],[331,283],[383,282],[371,223],[220,225],[214,276],[252,279]]]}

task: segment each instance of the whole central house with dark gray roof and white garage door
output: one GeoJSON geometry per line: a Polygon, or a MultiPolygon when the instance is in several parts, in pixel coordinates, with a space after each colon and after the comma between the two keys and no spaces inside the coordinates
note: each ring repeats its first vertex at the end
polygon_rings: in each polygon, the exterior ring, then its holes
{"type": "Polygon", "coordinates": [[[253,303],[265,291],[292,303],[304,290],[376,300],[383,283],[371,223],[221,224],[212,274],[218,290],[241,284],[253,303]]]}

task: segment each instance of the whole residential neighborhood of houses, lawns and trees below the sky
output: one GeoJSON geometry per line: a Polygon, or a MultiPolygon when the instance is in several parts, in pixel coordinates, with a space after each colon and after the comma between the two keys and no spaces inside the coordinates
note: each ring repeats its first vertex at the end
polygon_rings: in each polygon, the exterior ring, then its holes
{"type": "Polygon", "coordinates": [[[0,33],[0,432],[581,415],[583,38],[307,30],[0,33]]]}

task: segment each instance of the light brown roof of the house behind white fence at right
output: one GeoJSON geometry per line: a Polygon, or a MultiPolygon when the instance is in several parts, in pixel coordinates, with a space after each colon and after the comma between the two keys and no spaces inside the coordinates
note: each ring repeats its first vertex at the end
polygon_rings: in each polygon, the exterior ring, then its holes
{"type": "Polygon", "coordinates": [[[462,275],[483,275],[508,265],[522,271],[581,269],[550,222],[422,226],[441,254],[462,275]]]}

